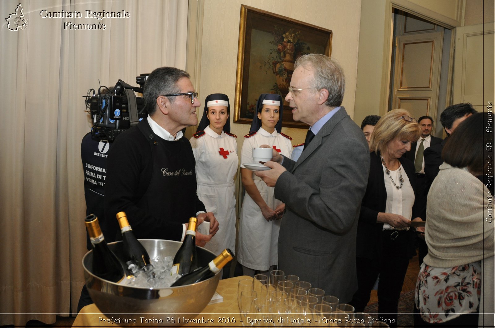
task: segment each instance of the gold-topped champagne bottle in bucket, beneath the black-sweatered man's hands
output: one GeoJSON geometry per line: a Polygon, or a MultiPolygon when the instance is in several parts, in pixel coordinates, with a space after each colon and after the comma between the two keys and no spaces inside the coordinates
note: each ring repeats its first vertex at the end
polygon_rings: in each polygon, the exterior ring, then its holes
{"type": "Polygon", "coordinates": [[[197,224],[198,219],[196,217],[189,218],[189,226],[186,231],[186,237],[184,237],[184,242],[177,253],[175,253],[172,264],[172,273],[178,273],[183,276],[198,268],[198,255],[196,253],[197,224]]]}

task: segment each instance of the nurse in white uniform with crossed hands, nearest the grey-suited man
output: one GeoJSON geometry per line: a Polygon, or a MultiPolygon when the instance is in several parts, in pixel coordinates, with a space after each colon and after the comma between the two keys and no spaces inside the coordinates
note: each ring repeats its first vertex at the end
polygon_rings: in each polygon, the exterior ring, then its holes
{"type": "Polygon", "coordinates": [[[248,276],[257,272],[266,274],[278,264],[277,241],[285,204],[275,199],[273,187],[268,187],[244,164],[259,164],[254,163],[252,149],[261,145],[269,145],[282,155],[291,157],[292,138],[280,132],[282,110],[280,95],[260,95],[241,152],[241,177],[246,195],[239,222],[237,259],[243,265],[243,273],[248,276]]]}

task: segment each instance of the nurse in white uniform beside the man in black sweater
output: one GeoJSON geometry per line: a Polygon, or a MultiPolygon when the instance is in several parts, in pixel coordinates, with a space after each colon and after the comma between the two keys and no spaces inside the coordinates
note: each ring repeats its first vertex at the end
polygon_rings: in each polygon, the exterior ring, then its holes
{"type": "Polygon", "coordinates": [[[204,103],[198,130],[190,142],[196,159],[198,197],[219,222],[218,232],[204,247],[218,255],[225,248],[236,249],[237,136],[230,133],[229,97],[214,93],[204,103]]]}

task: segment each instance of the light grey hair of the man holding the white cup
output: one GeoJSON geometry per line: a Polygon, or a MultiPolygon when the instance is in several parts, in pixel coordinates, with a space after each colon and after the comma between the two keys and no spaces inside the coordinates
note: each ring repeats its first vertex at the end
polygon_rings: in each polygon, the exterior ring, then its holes
{"type": "Polygon", "coordinates": [[[339,63],[320,53],[310,53],[297,58],[294,69],[302,66],[313,70],[313,83],[317,89],[327,89],[329,92],[325,105],[338,107],[344,99],[346,77],[339,63]]]}

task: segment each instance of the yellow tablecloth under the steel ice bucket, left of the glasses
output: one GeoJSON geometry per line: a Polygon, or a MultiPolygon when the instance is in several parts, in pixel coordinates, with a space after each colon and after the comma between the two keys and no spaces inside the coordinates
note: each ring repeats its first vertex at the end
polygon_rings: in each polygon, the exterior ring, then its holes
{"type": "Polygon", "coordinates": [[[152,318],[136,315],[136,324],[121,324],[117,325],[112,322],[106,322],[105,319],[110,319],[101,314],[95,304],[90,304],[81,309],[81,312],[74,320],[72,327],[118,327],[118,326],[133,326],[133,327],[160,327],[160,326],[188,326],[188,327],[229,327],[242,326],[241,316],[237,305],[237,285],[241,279],[252,279],[247,276],[234,277],[220,280],[216,289],[223,297],[223,302],[207,305],[203,311],[194,318],[194,322],[184,324],[184,322],[169,323],[153,323],[152,318]],[[142,322],[140,317],[145,317],[148,322],[142,322]],[[103,320],[102,320],[103,319],[103,320]],[[213,320],[213,322],[211,321],[213,320]]]}

